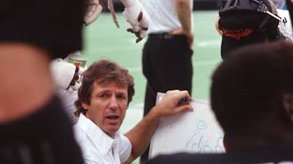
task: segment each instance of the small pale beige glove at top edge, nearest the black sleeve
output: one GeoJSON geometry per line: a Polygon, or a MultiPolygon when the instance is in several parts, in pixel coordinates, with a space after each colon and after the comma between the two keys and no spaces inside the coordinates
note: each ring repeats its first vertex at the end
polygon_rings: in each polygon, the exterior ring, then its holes
{"type": "Polygon", "coordinates": [[[100,16],[103,7],[100,5],[99,0],[86,0],[85,13],[84,13],[84,24],[87,26],[100,16]]]}

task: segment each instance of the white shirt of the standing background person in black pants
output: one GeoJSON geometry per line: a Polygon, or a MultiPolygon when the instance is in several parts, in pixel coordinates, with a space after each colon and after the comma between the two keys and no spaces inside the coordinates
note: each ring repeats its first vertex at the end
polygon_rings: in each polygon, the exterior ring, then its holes
{"type": "MultiPolygon", "coordinates": [[[[148,33],[164,33],[181,28],[176,14],[174,0],[140,0],[149,14],[148,33]]],[[[193,0],[190,0],[190,9],[193,9],[193,0]]],[[[190,13],[192,17],[192,13],[190,13]]],[[[191,19],[193,22],[193,19],[191,19]]]]}

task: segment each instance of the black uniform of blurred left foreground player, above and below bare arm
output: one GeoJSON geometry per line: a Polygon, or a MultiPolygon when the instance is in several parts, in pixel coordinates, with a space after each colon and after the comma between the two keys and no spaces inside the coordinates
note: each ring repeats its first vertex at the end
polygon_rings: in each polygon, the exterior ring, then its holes
{"type": "MultiPolygon", "coordinates": [[[[82,49],[82,0],[1,0],[0,43],[31,44],[50,58],[82,49]]],[[[12,68],[13,69],[13,68],[12,68]]],[[[26,118],[0,124],[1,164],[83,163],[57,97],[26,118]]]]}

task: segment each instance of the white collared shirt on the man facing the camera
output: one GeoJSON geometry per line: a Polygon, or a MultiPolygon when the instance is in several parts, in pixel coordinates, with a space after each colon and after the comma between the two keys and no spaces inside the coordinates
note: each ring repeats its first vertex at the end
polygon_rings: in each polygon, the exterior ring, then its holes
{"type": "Polygon", "coordinates": [[[123,163],[130,156],[131,143],[120,131],[117,131],[114,139],[110,138],[82,114],[74,129],[86,164],[123,163]]]}

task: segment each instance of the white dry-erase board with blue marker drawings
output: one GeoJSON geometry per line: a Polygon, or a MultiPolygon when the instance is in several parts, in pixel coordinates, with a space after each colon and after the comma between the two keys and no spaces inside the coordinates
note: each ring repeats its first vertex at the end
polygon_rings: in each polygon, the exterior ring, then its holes
{"type": "MultiPolygon", "coordinates": [[[[157,103],[163,93],[158,93],[157,103]]],[[[209,101],[191,99],[193,111],[160,118],[151,138],[149,158],[177,152],[223,153],[223,130],[211,111],[209,101]]]]}

